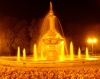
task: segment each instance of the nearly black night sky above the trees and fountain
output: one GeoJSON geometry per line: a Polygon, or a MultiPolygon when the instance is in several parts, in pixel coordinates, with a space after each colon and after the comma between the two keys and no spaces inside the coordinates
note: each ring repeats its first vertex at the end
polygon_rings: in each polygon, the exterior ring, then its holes
{"type": "MultiPolygon", "coordinates": [[[[52,1],[52,0],[51,0],[52,1]]],[[[44,17],[50,0],[0,0],[0,17],[31,21],[44,17]]],[[[62,25],[100,23],[100,0],[53,0],[53,10],[62,25]]]]}

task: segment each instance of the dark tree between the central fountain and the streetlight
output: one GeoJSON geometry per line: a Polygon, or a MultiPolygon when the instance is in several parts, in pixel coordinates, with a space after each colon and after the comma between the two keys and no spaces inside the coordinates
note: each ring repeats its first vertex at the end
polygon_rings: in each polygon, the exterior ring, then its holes
{"type": "Polygon", "coordinates": [[[71,23],[71,24],[67,25],[66,39],[69,42],[68,44],[70,44],[71,41],[73,42],[75,54],[77,54],[78,47],[80,47],[80,45],[81,45],[80,39],[82,37],[81,36],[82,32],[83,32],[82,26],[79,24],[71,23]]]}

